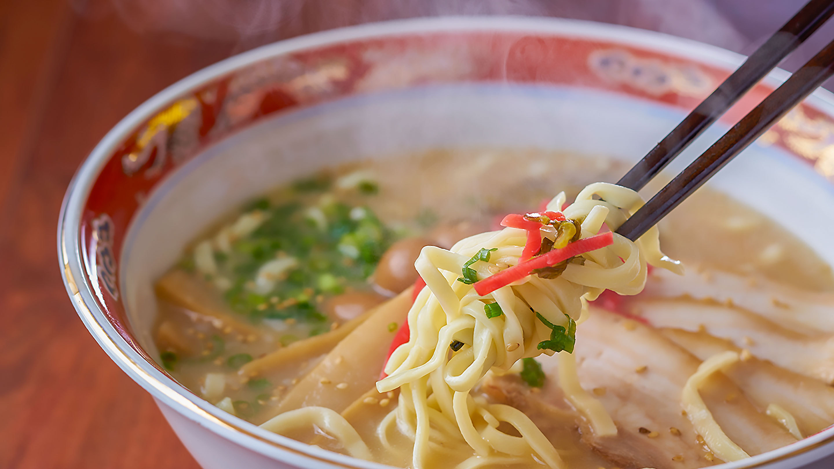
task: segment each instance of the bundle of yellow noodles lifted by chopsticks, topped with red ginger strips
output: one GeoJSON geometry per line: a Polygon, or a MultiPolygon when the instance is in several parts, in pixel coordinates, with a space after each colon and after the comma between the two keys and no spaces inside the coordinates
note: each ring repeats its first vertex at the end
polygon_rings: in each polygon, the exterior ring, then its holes
{"type": "Polygon", "coordinates": [[[682,273],[680,263],[661,253],[656,227],[636,242],[611,233],[643,203],[631,189],[590,184],[564,209],[561,193],[542,213],[508,215],[500,231],[471,236],[451,250],[425,247],[415,267],[427,288],[409,310],[408,341],[393,351],[387,376],[377,383],[380,392],[400,389],[399,405],[379,434],[395,422],[412,438],[415,469],[426,466],[430,448],[460,439],[476,460],[535,458],[564,467],[524,413],[471,395],[488,371],[510,371],[523,358],[559,351],[565,395],[595,432],[615,434],[610,416],[578,386],[569,354],[588,300],[606,289],[636,295],[647,264],[682,273]],[[501,422],[520,436],[500,431],[501,422]]]}

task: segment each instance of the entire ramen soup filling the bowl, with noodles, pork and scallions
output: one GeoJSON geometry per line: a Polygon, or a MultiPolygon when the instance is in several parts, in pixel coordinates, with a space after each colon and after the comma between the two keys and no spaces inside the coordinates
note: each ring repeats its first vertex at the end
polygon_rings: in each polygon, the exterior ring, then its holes
{"type": "Polygon", "coordinates": [[[158,280],[160,363],[269,431],[415,469],[688,469],[834,423],[830,267],[706,189],[659,235],[612,234],[642,204],[599,182],[624,173],[473,150],[309,174],[158,280]]]}

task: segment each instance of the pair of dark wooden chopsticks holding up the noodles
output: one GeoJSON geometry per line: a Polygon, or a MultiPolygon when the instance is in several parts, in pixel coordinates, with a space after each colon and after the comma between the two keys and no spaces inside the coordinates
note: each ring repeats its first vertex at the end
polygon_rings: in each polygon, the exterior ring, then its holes
{"type": "MultiPolygon", "coordinates": [[[[640,190],[672,159],[721,117],[761,78],[811,36],[834,13],[834,0],[811,0],[771,38],[756,49],[736,72],[724,80],[681,124],[666,135],[617,184],[640,190]]],[[[764,134],[826,79],[834,75],[834,41],[811,58],[791,78],[768,95],[721,139],[672,179],[666,187],[617,229],[637,240],[707,179],[764,134]]]]}

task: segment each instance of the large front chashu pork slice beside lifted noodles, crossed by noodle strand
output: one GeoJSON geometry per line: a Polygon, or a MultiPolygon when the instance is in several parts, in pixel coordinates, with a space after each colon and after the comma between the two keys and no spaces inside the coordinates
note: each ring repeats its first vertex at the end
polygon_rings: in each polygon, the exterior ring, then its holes
{"type": "MultiPolygon", "coordinates": [[[[594,310],[580,325],[574,353],[581,385],[600,400],[618,429],[616,436],[594,436],[587,423],[580,422],[583,441],[625,468],[686,469],[710,464],[696,431],[681,413],[681,391],[701,363],[695,356],[658,330],[603,310],[594,310]]],[[[526,399],[564,406],[555,383],[557,361],[546,356],[538,360],[548,382],[540,393],[526,399]]],[[[726,376],[711,376],[701,396],[727,436],[748,454],[796,441],[757,411],[726,376]],[[734,397],[726,401],[727,396],[734,397]]]]}

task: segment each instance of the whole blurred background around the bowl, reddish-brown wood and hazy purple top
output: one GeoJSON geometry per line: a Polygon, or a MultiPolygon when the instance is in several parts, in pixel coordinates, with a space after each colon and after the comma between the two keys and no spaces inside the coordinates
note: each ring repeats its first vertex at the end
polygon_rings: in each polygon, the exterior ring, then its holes
{"type": "MultiPolygon", "coordinates": [[[[280,39],[439,15],[618,23],[749,53],[801,0],[0,0],[0,468],[197,468],[83,330],[55,226],[78,164],[145,99],[280,39]]],[[[834,35],[821,28],[782,66],[834,35]]]]}

